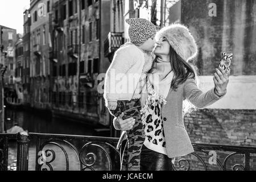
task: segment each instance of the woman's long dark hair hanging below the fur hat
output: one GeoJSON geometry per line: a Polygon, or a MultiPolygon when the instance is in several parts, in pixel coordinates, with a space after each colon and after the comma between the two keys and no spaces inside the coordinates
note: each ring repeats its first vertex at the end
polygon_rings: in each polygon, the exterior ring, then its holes
{"type": "MultiPolygon", "coordinates": [[[[176,53],[174,48],[170,46],[170,64],[171,68],[174,71],[174,78],[172,78],[171,82],[171,89],[173,89],[175,92],[177,91],[177,88],[179,85],[183,84],[188,78],[195,79],[195,82],[197,86],[199,85],[199,80],[197,77],[197,68],[195,65],[192,65],[185,61],[180,55],[176,53]]],[[[152,69],[154,67],[154,64],[156,60],[158,59],[158,56],[155,57],[154,63],[152,64],[152,68],[148,73],[152,72],[152,69]]],[[[188,100],[183,101],[183,114],[189,114],[192,111],[195,111],[196,107],[191,104],[188,100]]]]}

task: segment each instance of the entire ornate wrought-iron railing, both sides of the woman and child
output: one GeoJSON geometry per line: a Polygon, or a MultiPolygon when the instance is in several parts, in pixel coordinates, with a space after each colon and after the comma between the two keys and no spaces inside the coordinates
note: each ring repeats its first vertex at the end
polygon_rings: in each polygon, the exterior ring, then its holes
{"type": "MultiPolygon", "coordinates": [[[[8,169],[9,144],[17,144],[16,169],[120,170],[123,146],[118,138],[57,134],[0,134],[0,171],[8,169]],[[35,152],[33,152],[35,151],[35,152]],[[28,155],[30,154],[30,155],[28,155]],[[32,156],[31,154],[35,154],[32,156]],[[30,159],[30,162],[28,162],[30,159]]],[[[175,171],[256,170],[256,147],[193,144],[195,152],[170,160],[175,171]]]]}

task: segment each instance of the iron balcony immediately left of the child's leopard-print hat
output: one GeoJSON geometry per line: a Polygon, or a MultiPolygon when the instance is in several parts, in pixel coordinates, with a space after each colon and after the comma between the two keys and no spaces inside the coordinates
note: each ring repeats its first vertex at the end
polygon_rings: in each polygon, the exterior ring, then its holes
{"type": "Polygon", "coordinates": [[[108,38],[104,42],[104,56],[112,56],[123,42],[123,32],[109,32],[108,38]]]}

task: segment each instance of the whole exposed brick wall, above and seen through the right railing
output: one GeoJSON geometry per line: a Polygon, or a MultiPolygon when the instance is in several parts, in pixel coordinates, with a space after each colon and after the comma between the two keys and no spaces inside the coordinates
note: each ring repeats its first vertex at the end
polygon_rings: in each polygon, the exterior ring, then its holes
{"type": "MultiPolygon", "coordinates": [[[[185,127],[192,143],[224,144],[234,146],[256,146],[256,110],[202,109],[193,111],[184,117],[185,127]]],[[[208,170],[221,170],[220,164],[210,164],[206,153],[195,151],[204,161],[208,170]]],[[[216,151],[221,164],[232,152],[216,151]]],[[[204,170],[204,165],[197,156],[189,154],[179,157],[175,161],[177,170],[204,170]]],[[[226,163],[226,169],[232,170],[235,164],[244,166],[243,155],[234,155],[226,163]]],[[[241,169],[241,168],[240,168],[241,169]]],[[[250,169],[256,170],[256,155],[250,156],[250,169]]]]}

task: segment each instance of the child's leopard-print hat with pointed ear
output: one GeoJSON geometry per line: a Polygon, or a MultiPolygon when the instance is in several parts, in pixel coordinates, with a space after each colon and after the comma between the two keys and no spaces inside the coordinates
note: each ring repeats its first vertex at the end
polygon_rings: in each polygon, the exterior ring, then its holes
{"type": "Polygon", "coordinates": [[[139,46],[156,34],[156,27],[144,18],[129,18],[125,22],[130,25],[130,42],[139,46]]]}

